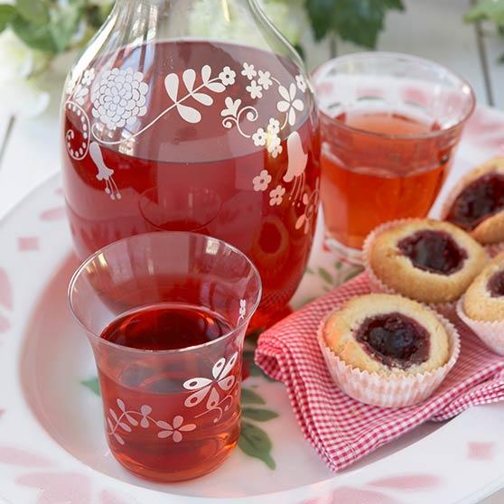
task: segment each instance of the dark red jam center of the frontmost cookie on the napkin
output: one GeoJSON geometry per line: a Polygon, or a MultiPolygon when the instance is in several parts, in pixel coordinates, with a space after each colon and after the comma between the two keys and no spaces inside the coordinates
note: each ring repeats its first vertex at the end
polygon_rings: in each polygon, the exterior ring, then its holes
{"type": "Polygon", "coordinates": [[[429,334],[402,313],[368,317],[356,333],[368,353],[386,366],[406,369],[429,357],[429,334]]]}

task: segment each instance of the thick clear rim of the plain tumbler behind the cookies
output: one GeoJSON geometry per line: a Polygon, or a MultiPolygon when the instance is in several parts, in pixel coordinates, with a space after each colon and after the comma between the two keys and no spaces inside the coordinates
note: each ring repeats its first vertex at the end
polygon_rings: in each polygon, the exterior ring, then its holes
{"type": "MultiPolygon", "coordinates": [[[[373,137],[378,137],[382,139],[387,139],[387,140],[419,140],[419,139],[425,139],[425,138],[436,138],[442,135],[445,135],[446,133],[452,132],[455,128],[462,126],[468,119],[471,117],[472,112],[474,111],[474,108],[476,107],[476,95],[474,93],[474,89],[472,89],[471,84],[464,79],[462,76],[460,76],[457,72],[448,69],[447,67],[443,66],[440,63],[437,63],[436,61],[431,61],[427,60],[425,58],[421,58],[419,56],[414,56],[412,54],[406,54],[404,52],[393,52],[393,51],[361,51],[361,52],[354,52],[352,54],[345,54],[344,56],[337,56],[336,58],[331,58],[331,60],[324,61],[320,65],[318,65],[310,74],[310,77],[313,79],[313,84],[314,84],[314,89],[315,89],[315,96],[316,96],[316,76],[318,73],[322,72],[322,70],[325,70],[325,67],[330,67],[333,65],[336,61],[345,61],[345,60],[360,60],[364,58],[379,58],[379,59],[386,59],[386,58],[396,58],[396,59],[401,59],[401,60],[406,60],[406,61],[412,61],[415,63],[419,63],[423,66],[429,66],[432,68],[435,68],[437,70],[443,70],[443,72],[447,73],[450,75],[453,79],[458,80],[462,88],[465,87],[469,89],[469,94],[467,95],[469,100],[470,100],[470,105],[468,107],[467,112],[465,115],[459,119],[453,126],[443,128],[443,129],[437,129],[434,131],[428,131],[425,133],[406,133],[403,135],[397,135],[397,134],[390,134],[390,133],[377,133],[374,131],[368,131],[366,129],[361,129],[359,127],[355,126],[349,126],[344,123],[341,123],[341,121],[338,121],[334,117],[329,116],[326,112],[322,110],[321,107],[318,107],[319,114],[324,118],[330,120],[332,123],[336,123],[341,129],[347,130],[350,133],[359,133],[360,135],[369,135],[373,137]]],[[[317,100],[318,101],[318,100],[317,100]]]]}

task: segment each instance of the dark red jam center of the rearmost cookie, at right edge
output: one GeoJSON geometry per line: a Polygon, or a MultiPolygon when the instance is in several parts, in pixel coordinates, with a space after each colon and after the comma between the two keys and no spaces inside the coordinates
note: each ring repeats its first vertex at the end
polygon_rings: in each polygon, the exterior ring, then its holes
{"type": "Polygon", "coordinates": [[[471,231],[500,210],[504,210],[504,175],[487,173],[463,189],[446,219],[471,231]]]}

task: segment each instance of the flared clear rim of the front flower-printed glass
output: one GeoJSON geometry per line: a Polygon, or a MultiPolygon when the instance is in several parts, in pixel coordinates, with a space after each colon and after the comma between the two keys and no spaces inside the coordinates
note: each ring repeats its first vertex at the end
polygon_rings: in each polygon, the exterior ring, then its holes
{"type": "MultiPolygon", "coordinates": [[[[213,238],[208,235],[202,235],[201,233],[196,233],[193,231],[152,231],[150,233],[142,233],[139,235],[133,235],[131,237],[118,239],[117,241],[113,241],[112,243],[109,243],[108,245],[99,248],[96,252],[91,254],[87,259],[85,259],[79,265],[79,267],[71,275],[69,286],[67,289],[67,300],[68,300],[68,303],[70,306],[70,313],[72,314],[74,320],[76,322],[78,322],[80,328],[83,329],[84,331],[86,331],[88,336],[92,337],[92,339],[94,341],[98,341],[100,344],[104,344],[107,347],[111,347],[116,350],[132,352],[132,353],[136,353],[136,354],[143,354],[143,355],[148,354],[151,356],[157,356],[157,355],[176,355],[176,354],[183,353],[186,351],[202,350],[202,349],[208,348],[210,346],[213,346],[214,344],[219,343],[220,341],[224,341],[227,338],[229,338],[231,335],[235,334],[236,332],[243,330],[247,326],[250,319],[252,318],[252,315],[254,313],[256,313],[257,306],[259,305],[259,303],[261,301],[262,293],[263,293],[263,284],[262,284],[262,280],[261,280],[261,275],[259,275],[259,271],[257,270],[257,266],[254,265],[254,263],[247,257],[246,254],[244,254],[237,247],[234,247],[233,245],[229,244],[227,241],[224,241],[219,238],[213,238]],[[73,299],[73,293],[75,292],[74,287],[75,287],[75,284],[76,284],[79,276],[84,272],[84,270],[86,269],[87,266],[89,266],[89,264],[91,264],[100,254],[103,254],[103,252],[106,251],[107,249],[117,247],[119,244],[125,243],[127,241],[133,241],[135,239],[142,239],[142,238],[146,238],[146,237],[153,237],[156,235],[157,236],[163,235],[164,237],[166,237],[167,235],[175,235],[175,236],[179,236],[179,237],[182,235],[185,235],[185,236],[189,235],[189,236],[192,236],[197,239],[215,240],[215,241],[219,242],[220,245],[223,245],[224,247],[228,248],[234,254],[237,254],[238,257],[245,259],[248,266],[250,266],[250,269],[252,272],[251,274],[257,277],[257,285],[258,285],[257,286],[256,301],[253,304],[252,309],[248,310],[247,316],[245,316],[241,322],[237,323],[237,325],[235,327],[233,327],[229,331],[227,331],[224,334],[222,334],[221,336],[219,336],[219,338],[216,338],[215,340],[207,341],[205,343],[200,343],[199,345],[191,345],[190,347],[184,347],[182,349],[166,349],[166,350],[135,349],[133,347],[126,347],[125,345],[119,345],[118,343],[115,343],[114,341],[104,340],[103,338],[101,338],[100,334],[96,334],[94,331],[91,331],[89,329],[89,327],[87,327],[87,325],[84,322],[82,322],[82,320],[79,318],[79,316],[77,315],[75,308],[74,308],[75,300],[73,299]]],[[[137,308],[141,308],[142,306],[144,306],[144,305],[135,306],[135,308],[132,308],[131,310],[136,310],[137,308]]],[[[124,313],[129,313],[129,312],[131,312],[131,310],[126,310],[126,312],[124,312],[124,313]]]]}

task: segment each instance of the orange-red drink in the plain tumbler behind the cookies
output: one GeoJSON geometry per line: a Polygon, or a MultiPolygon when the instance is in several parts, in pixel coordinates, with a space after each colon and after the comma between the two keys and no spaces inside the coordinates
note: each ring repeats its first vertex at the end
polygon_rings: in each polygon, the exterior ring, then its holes
{"type": "Polygon", "coordinates": [[[341,244],[360,248],[387,220],[425,217],[446,178],[460,132],[434,138],[439,129],[413,117],[386,113],[342,114],[322,125],[322,202],[327,228],[341,244]]]}

